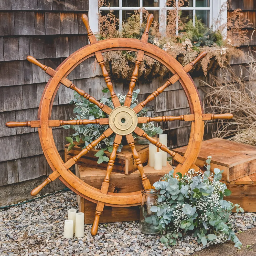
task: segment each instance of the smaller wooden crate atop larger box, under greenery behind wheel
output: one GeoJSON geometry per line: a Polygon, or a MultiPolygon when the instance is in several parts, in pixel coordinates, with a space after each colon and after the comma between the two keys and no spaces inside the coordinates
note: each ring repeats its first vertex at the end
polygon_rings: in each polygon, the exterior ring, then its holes
{"type": "MultiPolygon", "coordinates": [[[[69,144],[65,145],[65,161],[69,160],[73,156],[77,155],[81,151],[81,147],[74,146],[70,151],[68,151],[69,144]]],[[[136,150],[139,154],[139,157],[141,159],[142,165],[147,165],[148,162],[148,155],[149,155],[149,147],[148,145],[140,145],[135,144],[136,150]]],[[[81,166],[87,166],[101,170],[106,170],[108,163],[103,162],[101,164],[97,164],[98,157],[94,156],[98,150],[95,150],[94,148],[89,151],[86,155],[82,156],[77,164],[81,166]]],[[[111,153],[108,151],[105,151],[106,156],[110,156],[111,153]]],[[[113,166],[113,172],[116,173],[124,173],[126,175],[134,172],[137,170],[137,165],[134,161],[132,151],[130,149],[129,145],[124,145],[122,148],[122,151],[116,154],[115,164],[113,166]]]]}

